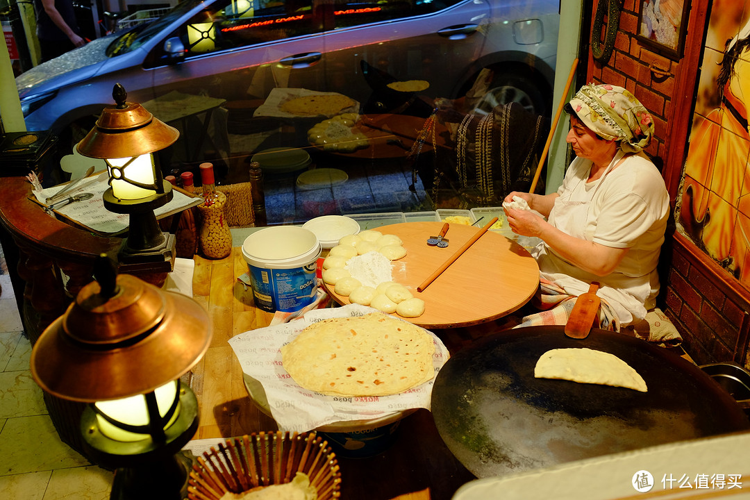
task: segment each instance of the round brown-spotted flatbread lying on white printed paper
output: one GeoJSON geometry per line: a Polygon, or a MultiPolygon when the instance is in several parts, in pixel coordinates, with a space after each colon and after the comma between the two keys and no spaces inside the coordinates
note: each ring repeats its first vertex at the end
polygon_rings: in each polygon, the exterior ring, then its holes
{"type": "Polygon", "coordinates": [[[284,369],[309,391],[387,396],[435,376],[434,340],[411,323],[380,313],[326,319],[281,348],[284,369]]]}

